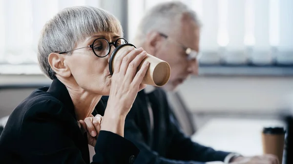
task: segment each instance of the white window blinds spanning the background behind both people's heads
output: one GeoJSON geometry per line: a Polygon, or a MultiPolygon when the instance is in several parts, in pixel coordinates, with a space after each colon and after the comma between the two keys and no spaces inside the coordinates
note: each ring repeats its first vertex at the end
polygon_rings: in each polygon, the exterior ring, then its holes
{"type": "MultiPolygon", "coordinates": [[[[0,73],[13,69],[41,73],[36,65],[40,31],[65,7],[105,8],[122,21],[132,42],[146,9],[164,1],[170,0],[0,0],[0,73]]],[[[201,63],[273,64],[274,59],[278,64],[293,64],[293,0],[182,1],[203,23],[201,63]]]]}

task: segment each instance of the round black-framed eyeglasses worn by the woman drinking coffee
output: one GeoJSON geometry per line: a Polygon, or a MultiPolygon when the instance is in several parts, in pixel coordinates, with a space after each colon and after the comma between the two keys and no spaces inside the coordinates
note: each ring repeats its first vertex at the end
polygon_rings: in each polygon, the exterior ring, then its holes
{"type": "MultiPolygon", "coordinates": [[[[100,37],[97,38],[93,41],[93,44],[88,45],[86,47],[91,47],[94,54],[98,57],[106,57],[107,55],[109,55],[110,50],[111,50],[111,45],[113,45],[115,48],[119,45],[122,44],[126,44],[128,43],[127,40],[125,38],[118,38],[115,42],[109,42],[107,39],[100,37]]],[[[74,50],[79,50],[82,48],[86,48],[86,47],[81,47],[81,48],[77,48],[74,50]]],[[[65,51],[65,52],[61,52],[59,54],[65,54],[74,50],[70,50],[70,51],[65,51]]]]}

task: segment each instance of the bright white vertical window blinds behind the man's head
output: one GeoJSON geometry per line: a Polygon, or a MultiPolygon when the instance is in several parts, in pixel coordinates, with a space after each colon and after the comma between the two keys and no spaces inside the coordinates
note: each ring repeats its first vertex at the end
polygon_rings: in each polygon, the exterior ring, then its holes
{"type": "MultiPolygon", "coordinates": [[[[171,0],[128,0],[129,40],[143,16],[141,11],[164,1],[171,0]]],[[[203,23],[202,63],[293,64],[293,0],[181,1],[203,23]]]]}

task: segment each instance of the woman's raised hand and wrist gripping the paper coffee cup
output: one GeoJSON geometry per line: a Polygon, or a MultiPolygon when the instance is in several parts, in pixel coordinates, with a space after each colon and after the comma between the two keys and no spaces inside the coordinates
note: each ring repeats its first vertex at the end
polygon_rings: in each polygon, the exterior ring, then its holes
{"type": "Polygon", "coordinates": [[[148,69],[146,61],[136,73],[138,66],[146,57],[142,49],[130,47],[123,55],[116,59],[114,73],[111,78],[111,89],[105,115],[103,118],[102,130],[124,136],[125,118],[137,96],[137,92],[144,89],[146,85],[141,84],[148,69]]]}

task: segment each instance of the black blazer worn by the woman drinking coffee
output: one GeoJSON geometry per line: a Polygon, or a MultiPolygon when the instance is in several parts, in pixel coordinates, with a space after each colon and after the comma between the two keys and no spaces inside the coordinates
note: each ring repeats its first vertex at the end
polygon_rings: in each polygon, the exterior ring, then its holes
{"type": "MultiPolygon", "coordinates": [[[[105,110],[103,101],[96,109],[105,110]]],[[[96,111],[93,114],[97,114],[96,111]]],[[[92,164],[131,164],[139,149],[125,138],[100,131],[92,164]]],[[[0,136],[1,164],[89,164],[86,134],[79,128],[66,87],[33,91],[14,109],[0,136]]]]}

